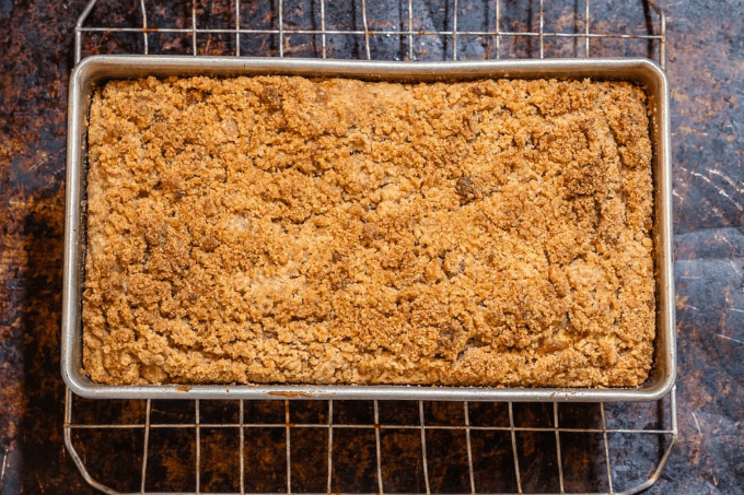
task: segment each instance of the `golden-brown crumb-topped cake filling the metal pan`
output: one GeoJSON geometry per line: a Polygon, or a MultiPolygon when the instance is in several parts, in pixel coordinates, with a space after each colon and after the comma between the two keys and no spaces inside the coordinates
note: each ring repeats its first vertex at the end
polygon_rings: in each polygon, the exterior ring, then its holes
{"type": "Polygon", "coordinates": [[[623,82],[109,82],[89,128],[84,370],[640,385],[648,127],[623,82]]]}

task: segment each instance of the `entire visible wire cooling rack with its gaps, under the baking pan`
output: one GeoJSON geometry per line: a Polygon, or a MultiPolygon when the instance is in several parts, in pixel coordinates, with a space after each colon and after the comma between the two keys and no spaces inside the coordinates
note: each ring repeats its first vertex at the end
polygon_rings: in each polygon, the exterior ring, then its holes
{"type": "MultiPolygon", "coordinates": [[[[416,61],[644,56],[665,64],[651,1],[91,0],[94,54],[416,61]],[[591,1],[591,4],[590,4],[591,1]]],[[[675,390],[653,403],[90,401],[65,441],[107,494],[631,494],[677,440],[675,390]]]]}

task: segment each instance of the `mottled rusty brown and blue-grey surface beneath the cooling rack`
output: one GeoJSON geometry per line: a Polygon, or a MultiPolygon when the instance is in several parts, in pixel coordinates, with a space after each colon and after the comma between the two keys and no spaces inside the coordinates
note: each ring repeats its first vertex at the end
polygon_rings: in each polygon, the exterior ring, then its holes
{"type": "MultiPolygon", "coordinates": [[[[592,2],[600,4],[595,8],[604,12],[602,22],[618,31],[633,27],[624,21],[629,19],[626,12],[629,3],[592,2]]],[[[567,4],[570,10],[571,4],[567,4]]],[[[649,493],[737,494],[743,493],[744,480],[744,365],[741,360],[744,352],[744,145],[741,135],[744,117],[740,107],[744,98],[741,21],[744,4],[734,0],[660,4],[670,15],[667,72],[672,86],[677,233],[681,443],[662,480],[649,493]]],[[[8,459],[4,493],[95,493],[82,481],[63,448],[63,386],[59,375],[65,98],[70,73],[70,34],[82,7],[81,0],[0,1],[0,451],[10,452],[2,456],[8,459]]],[[[98,14],[114,20],[136,15],[130,7],[131,2],[118,12],[98,14]]],[[[427,15],[437,12],[438,8],[422,9],[416,15],[426,22],[427,15]]],[[[522,21],[514,19],[513,22],[522,21]]],[[[642,20],[640,26],[643,27],[642,20]]],[[[535,49],[530,40],[518,42],[514,44],[518,55],[535,49]]],[[[102,36],[100,43],[116,49],[121,44],[137,42],[102,36]]],[[[159,43],[177,50],[181,42],[174,38],[159,43]]],[[[214,37],[205,45],[205,50],[218,43],[229,42],[214,37]]],[[[265,43],[271,48],[271,39],[265,43]]],[[[310,43],[298,46],[314,49],[310,43]]],[[[349,57],[358,56],[353,50],[358,50],[359,45],[353,40],[338,42],[335,46],[339,51],[346,50],[349,57]]],[[[432,48],[435,49],[437,46],[432,48]]],[[[568,45],[561,49],[570,55],[581,47],[568,45]]],[[[646,49],[646,44],[638,47],[641,51],[646,49]]],[[[592,55],[596,56],[631,55],[625,47],[609,42],[593,46],[593,50],[596,52],[592,55]]],[[[633,55],[639,55],[638,50],[633,55]]],[[[85,414],[96,421],[105,414],[120,419],[140,414],[140,403],[89,405],[90,412],[85,414]],[[104,410],[100,411],[101,408],[104,410]]],[[[256,408],[269,406],[257,404],[256,408]]],[[[608,413],[620,423],[646,415],[652,419],[653,427],[656,421],[647,405],[627,404],[608,413]]],[[[178,419],[186,413],[166,411],[163,414],[178,419]]],[[[349,408],[346,414],[356,417],[365,412],[349,408]]],[[[406,411],[402,406],[390,414],[406,414],[406,411]]],[[[591,410],[574,412],[574,415],[585,421],[595,417],[591,410]]],[[[531,410],[526,417],[539,421],[540,411],[531,410]]],[[[113,446],[120,449],[120,460],[101,458],[100,470],[114,475],[126,473],[126,463],[137,462],[137,455],[127,457],[127,452],[138,451],[139,438],[131,432],[121,432],[113,446]]],[[[256,445],[267,448],[263,450],[264,457],[254,459],[252,465],[270,463],[274,451],[270,447],[279,440],[271,436],[254,439],[256,445]]],[[[184,475],[183,468],[179,460],[171,456],[167,441],[160,443],[164,446],[163,452],[153,469],[162,476],[178,479],[184,475]]],[[[393,446],[406,445],[403,439],[399,444],[395,439],[386,441],[393,446]]],[[[446,438],[438,441],[447,445],[446,438]]],[[[595,439],[584,441],[591,450],[595,439]]],[[[654,458],[656,445],[638,445],[638,439],[626,438],[615,441],[628,452],[623,459],[626,469],[642,471],[649,462],[658,460],[654,458]]],[[[84,439],[84,444],[89,446],[85,455],[94,457],[96,438],[84,439]]],[[[524,453],[535,465],[544,462],[539,438],[525,445],[524,453]]],[[[310,458],[317,450],[317,441],[309,434],[305,444],[292,448],[310,458]]],[[[498,452],[495,448],[490,459],[497,464],[498,452]]],[[[363,452],[359,456],[363,457],[363,452]]],[[[456,468],[462,452],[453,448],[441,457],[437,465],[443,488],[460,491],[466,485],[456,468]]],[[[595,462],[595,458],[579,455],[565,468],[571,475],[600,473],[595,462]]],[[[339,476],[359,490],[370,485],[368,474],[354,469],[353,459],[347,464],[339,476]]],[[[232,464],[214,463],[209,486],[224,486],[228,483],[224,480],[230,479],[230,473],[223,472],[228,469],[233,469],[232,464]]],[[[419,491],[417,470],[420,467],[393,470],[391,482],[419,491]]],[[[509,487],[511,481],[496,480],[498,476],[495,478],[492,471],[484,467],[484,479],[491,480],[493,486],[503,482],[509,487]]],[[[129,483],[137,481],[119,482],[129,490],[129,483]]],[[[281,482],[281,474],[257,479],[258,482],[267,491],[276,490],[274,486],[281,482]]],[[[549,487],[546,483],[532,480],[530,486],[542,490],[549,487]]],[[[309,486],[309,490],[315,488],[309,486]]]]}

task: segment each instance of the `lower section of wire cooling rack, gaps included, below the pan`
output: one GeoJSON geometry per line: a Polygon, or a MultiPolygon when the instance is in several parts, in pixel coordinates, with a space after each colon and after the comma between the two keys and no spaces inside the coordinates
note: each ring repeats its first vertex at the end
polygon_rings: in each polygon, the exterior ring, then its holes
{"type": "Polygon", "coordinates": [[[68,390],[65,439],[107,494],[631,494],[661,475],[675,400],[90,401],[68,390]]]}

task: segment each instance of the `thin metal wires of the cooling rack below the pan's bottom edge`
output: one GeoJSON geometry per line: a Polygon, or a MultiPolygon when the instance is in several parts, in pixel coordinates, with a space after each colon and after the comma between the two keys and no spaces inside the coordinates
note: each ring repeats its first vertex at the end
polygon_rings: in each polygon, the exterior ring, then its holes
{"type": "MultiPolygon", "coordinates": [[[[131,495],[135,494],[155,494],[155,493],[162,493],[162,492],[148,492],[146,490],[147,486],[147,475],[148,475],[148,460],[149,460],[149,448],[150,448],[150,434],[154,429],[158,428],[171,428],[173,429],[193,429],[195,432],[195,438],[196,438],[196,456],[195,456],[195,465],[194,465],[194,482],[195,482],[195,491],[193,492],[179,492],[179,493],[189,493],[189,494],[201,494],[201,493],[207,493],[201,491],[201,465],[202,465],[202,452],[201,452],[201,429],[202,428],[234,428],[239,431],[240,435],[240,445],[237,447],[237,452],[236,455],[239,456],[239,465],[240,465],[240,492],[232,492],[232,495],[241,494],[245,495],[246,493],[256,493],[256,492],[251,492],[246,491],[246,480],[245,480],[245,450],[246,450],[246,443],[245,443],[245,432],[251,428],[277,428],[278,424],[277,423],[252,423],[252,422],[245,422],[244,421],[244,402],[243,400],[236,401],[239,402],[239,408],[240,408],[240,413],[239,413],[239,420],[236,422],[226,422],[226,423],[207,423],[207,422],[201,422],[200,421],[200,402],[196,400],[195,401],[195,422],[193,423],[158,423],[158,422],[152,422],[151,421],[151,411],[152,411],[152,401],[147,400],[146,403],[146,416],[144,416],[144,422],[142,423],[131,423],[131,424],[126,424],[126,423],[120,423],[120,424],[74,424],[74,419],[73,419],[73,403],[74,399],[72,396],[72,392],[70,390],[67,390],[67,402],[66,402],[66,410],[65,410],[65,441],[68,447],[68,450],[80,469],[80,472],[83,474],[85,481],[93,487],[106,493],[106,494],[118,494],[119,492],[116,492],[115,490],[112,490],[111,487],[102,484],[101,482],[96,481],[93,479],[93,476],[88,472],[88,469],[85,467],[85,463],[81,456],[78,453],[78,450],[75,449],[73,445],[73,439],[72,439],[72,434],[74,431],[81,431],[81,429],[98,429],[98,431],[112,431],[112,429],[136,429],[136,431],[142,431],[143,435],[143,452],[142,452],[142,461],[141,461],[141,484],[140,484],[140,490],[138,492],[130,492],[131,495]]],[[[455,432],[464,432],[465,433],[465,441],[466,441],[466,448],[467,448],[467,469],[468,469],[468,479],[469,479],[469,493],[470,494],[477,494],[477,493],[483,493],[478,492],[476,490],[476,478],[475,478],[475,469],[474,469],[474,455],[473,455],[473,446],[472,446],[472,440],[470,436],[473,432],[504,432],[508,433],[511,436],[511,449],[512,449],[512,456],[513,456],[513,465],[500,465],[500,467],[495,467],[495,469],[501,469],[501,470],[511,470],[513,469],[513,473],[516,480],[516,491],[515,492],[509,492],[510,494],[523,494],[525,493],[523,491],[523,480],[522,480],[522,472],[524,470],[524,467],[520,468],[520,456],[518,452],[518,439],[516,436],[518,434],[524,432],[524,433],[554,433],[555,434],[555,439],[556,439],[556,452],[557,452],[557,468],[558,468],[558,482],[559,482],[559,492],[560,494],[565,493],[576,493],[576,492],[567,492],[566,490],[566,481],[565,481],[565,475],[563,475],[563,469],[562,469],[562,459],[561,459],[561,440],[560,436],[562,434],[598,434],[602,435],[603,438],[603,450],[604,450],[604,456],[605,456],[605,462],[604,462],[604,469],[606,470],[606,481],[607,481],[607,486],[608,491],[607,492],[602,492],[603,494],[633,494],[641,492],[649,486],[653,485],[658,480],[659,476],[661,475],[661,472],[664,469],[664,465],[666,464],[666,461],[669,460],[670,453],[672,451],[672,447],[676,443],[677,439],[677,421],[676,421],[676,390],[673,390],[670,394],[670,401],[669,401],[669,414],[670,414],[670,426],[667,428],[654,428],[654,429],[646,429],[646,428],[618,428],[618,427],[608,427],[607,426],[607,419],[605,414],[605,405],[604,403],[600,404],[600,412],[601,412],[601,424],[598,427],[590,427],[590,428],[576,428],[576,427],[561,427],[559,424],[559,414],[558,414],[558,409],[559,404],[557,402],[551,403],[553,406],[553,424],[554,426],[550,427],[525,427],[525,426],[519,426],[518,422],[515,421],[515,412],[514,412],[514,404],[511,402],[507,403],[508,405],[508,414],[509,414],[509,426],[480,426],[480,425],[473,425],[470,424],[469,417],[469,409],[470,405],[468,402],[462,402],[463,406],[463,417],[464,422],[462,425],[429,425],[426,422],[425,419],[425,403],[423,401],[417,401],[418,405],[418,423],[419,424],[383,424],[380,421],[380,403],[379,401],[373,401],[373,411],[374,411],[374,423],[373,424],[348,424],[348,423],[334,423],[334,401],[327,401],[327,422],[325,423],[292,423],[290,419],[290,401],[284,400],[283,401],[284,405],[284,421],[283,421],[283,428],[284,428],[284,434],[286,434],[286,465],[287,465],[287,478],[286,478],[286,491],[282,492],[275,492],[274,495],[283,495],[283,494],[292,494],[293,488],[292,488],[292,456],[291,456],[291,445],[292,445],[292,432],[297,432],[298,429],[301,428],[324,428],[327,431],[327,483],[326,483],[326,491],[325,492],[319,492],[315,494],[309,494],[309,495],[321,495],[321,494],[332,494],[336,493],[334,491],[333,486],[333,475],[334,475],[334,464],[335,464],[335,458],[334,458],[334,431],[339,431],[339,429],[345,429],[345,428],[353,428],[353,429],[370,429],[374,432],[374,451],[375,451],[375,478],[376,478],[376,487],[377,491],[373,492],[376,494],[384,494],[384,493],[391,493],[386,492],[384,488],[384,483],[383,483],[383,468],[382,468],[382,448],[381,448],[381,432],[383,431],[415,431],[415,432],[420,432],[421,436],[421,462],[422,462],[422,470],[423,470],[423,481],[425,481],[425,491],[427,495],[431,495],[432,493],[437,494],[438,492],[432,491],[431,484],[430,484],[430,479],[431,475],[429,473],[429,456],[427,455],[427,433],[437,431],[437,429],[446,429],[446,431],[455,431],[455,432]],[[653,471],[653,473],[642,483],[630,487],[625,491],[615,491],[614,486],[617,486],[615,478],[613,475],[613,469],[611,467],[611,448],[609,448],[609,440],[608,440],[608,435],[613,434],[628,434],[628,435],[650,435],[650,436],[656,436],[661,438],[664,438],[666,441],[665,444],[665,449],[663,450],[663,455],[661,456],[661,459],[659,461],[659,464],[656,469],[653,471]]],[[[294,462],[298,462],[295,459],[294,462]]],[[[208,492],[212,493],[212,492],[208,492]]],[[[305,492],[303,492],[305,493],[305,492]]],[[[398,494],[398,492],[393,492],[398,494]]],[[[598,492],[595,492],[598,493],[598,492]]],[[[372,495],[372,494],[364,494],[364,495],[372,495]]],[[[505,493],[502,494],[484,494],[484,495],[507,495],[505,493]]]]}

